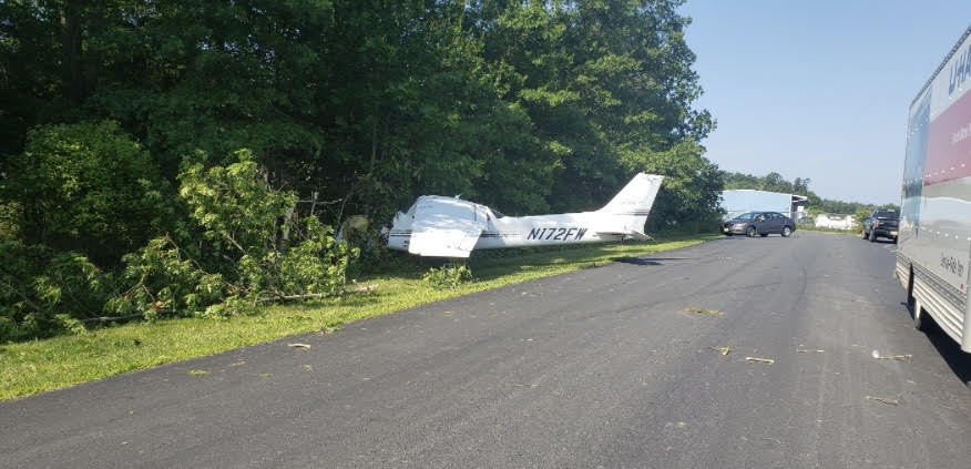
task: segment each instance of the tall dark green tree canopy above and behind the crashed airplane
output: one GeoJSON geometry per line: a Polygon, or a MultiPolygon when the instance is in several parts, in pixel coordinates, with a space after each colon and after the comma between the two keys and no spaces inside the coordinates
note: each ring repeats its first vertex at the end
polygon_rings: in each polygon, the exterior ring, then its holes
{"type": "Polygon", "coordinates": [[[676,184],[691,171],[666,153],[714,126],[679,4],[8,1],[0,154],[39,124],[111,120],[170,182],[195,150],[246,147],[274,184],[341,201],[331,217],[422,193],[593,207],[635,171],[676,184]]]}

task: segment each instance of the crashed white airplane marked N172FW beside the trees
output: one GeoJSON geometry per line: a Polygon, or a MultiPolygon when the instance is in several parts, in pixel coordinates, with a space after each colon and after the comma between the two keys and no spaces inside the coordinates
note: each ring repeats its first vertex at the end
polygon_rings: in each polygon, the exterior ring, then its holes
{"type": "Polygon", "coordinates": [[[388,247],[428,257],[469,257],[473,249],[651,239],[642,233],[664,176],[640,173],[603,208],[504,216],[459,197],[422,195],[398,212],[388,247]]]}

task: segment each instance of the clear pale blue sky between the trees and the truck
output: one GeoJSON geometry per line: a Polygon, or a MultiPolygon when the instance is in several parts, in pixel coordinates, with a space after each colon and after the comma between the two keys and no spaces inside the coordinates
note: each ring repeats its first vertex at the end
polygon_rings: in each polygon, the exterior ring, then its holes
{"type": "Polygon", "coordinates": [[[687,43],[723,170],[900,203],[910,101],[971,23],[963,1],[688,0],[687,43]]]}

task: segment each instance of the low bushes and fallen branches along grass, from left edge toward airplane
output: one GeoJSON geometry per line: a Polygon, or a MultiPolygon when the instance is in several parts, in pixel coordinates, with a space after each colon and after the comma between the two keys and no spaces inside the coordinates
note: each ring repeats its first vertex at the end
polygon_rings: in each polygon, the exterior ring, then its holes
{"type": "Polygon", "coordinates": [[[0,237],[0,341],[116,320],[226,317],[257,306],[338,295],[357,249],[300,218],[296,194],[269,186],[247,151],[180,175],[190,214],[103,269],[82,254],[0,237]]]}

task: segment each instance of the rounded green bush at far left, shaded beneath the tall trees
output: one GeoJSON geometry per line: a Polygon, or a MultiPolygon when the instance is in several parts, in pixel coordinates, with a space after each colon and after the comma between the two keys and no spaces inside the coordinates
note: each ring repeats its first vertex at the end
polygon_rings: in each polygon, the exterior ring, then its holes
{"type": "Polygon", "coordinates": [[[149,153],[114,122],[43,125],[10,162],[4,196],[21,236],[104,265],[143,244],[171,214],[149,153]]]}

